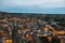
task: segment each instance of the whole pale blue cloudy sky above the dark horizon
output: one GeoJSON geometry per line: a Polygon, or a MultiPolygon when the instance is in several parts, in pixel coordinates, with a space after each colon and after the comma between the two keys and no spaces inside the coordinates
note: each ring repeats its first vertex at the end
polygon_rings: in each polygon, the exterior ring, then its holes
{"type": "Polygon", "coordinates": [[[0,0],[0,11],[65,14],[65,0],[0,0]]]}

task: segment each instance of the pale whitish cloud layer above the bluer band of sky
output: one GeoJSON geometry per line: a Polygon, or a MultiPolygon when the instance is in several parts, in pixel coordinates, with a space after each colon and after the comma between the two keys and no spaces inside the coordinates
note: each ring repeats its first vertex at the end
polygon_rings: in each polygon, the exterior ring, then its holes
{"type": "Polygon", "coordinates": [[[1,6],[65,8],[65,0],[2,0],[1,6]]]}

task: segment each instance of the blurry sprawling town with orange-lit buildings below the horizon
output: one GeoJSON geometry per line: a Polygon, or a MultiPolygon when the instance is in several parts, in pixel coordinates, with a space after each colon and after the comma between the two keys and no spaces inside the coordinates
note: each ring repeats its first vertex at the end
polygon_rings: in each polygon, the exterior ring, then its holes
{"type": "Polygon", "coordinates": [[[65,43],[65,15],[0,12],[0,43],[65,43]]]}

